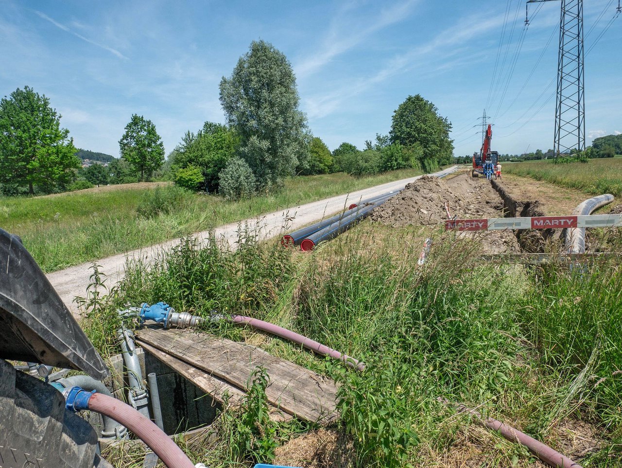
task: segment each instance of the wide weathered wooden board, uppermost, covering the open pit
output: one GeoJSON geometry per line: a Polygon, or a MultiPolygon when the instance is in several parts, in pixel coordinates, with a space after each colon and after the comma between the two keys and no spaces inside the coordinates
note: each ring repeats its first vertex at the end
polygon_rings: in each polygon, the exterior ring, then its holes
{"type": "Polygon", "coordinates": [[[328,424],[338,417],[334,381],[258,347],[188,329],[144,328],[137,330],[136,337],[238,388],[248,388],[251,373],[264,367],[270,377],[266,388],[269,403],[314,423],[328,424]]]}

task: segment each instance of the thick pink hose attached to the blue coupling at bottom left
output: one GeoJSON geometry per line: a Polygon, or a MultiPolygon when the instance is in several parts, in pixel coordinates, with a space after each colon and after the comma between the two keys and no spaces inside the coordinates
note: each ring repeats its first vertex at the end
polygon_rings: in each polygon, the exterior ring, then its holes
{"type": "Polygon", "coordinates": [[[88,409],[105,414],[118,423],[123,424],[138,436],[154,451],[169,468],[195,468],[192,462],[177,447],[164,431],[161,431],[151,420],[122,401],[103,393],[93,393],[88,400],[88,409]]]}

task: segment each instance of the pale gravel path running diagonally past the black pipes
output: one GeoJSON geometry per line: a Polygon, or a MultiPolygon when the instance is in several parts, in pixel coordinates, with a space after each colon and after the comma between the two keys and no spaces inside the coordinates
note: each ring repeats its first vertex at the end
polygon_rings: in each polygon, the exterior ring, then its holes
{"type": "MultiPolygon", "coordinates": [[[[443,171],[436,172],[433,175],[445,175],[450,174],[458,169],[458,166],[452,166],[443,171]]],[[[376,185],[369,189],[358,190],[351,194],[338,195],[330,199],[320,200],[318,202],[312,202],[306,205],[300,205],[298,207],[287,208],[273,213],[268,213],[260,218],[253,218],[243,220],[239,223],[231,223],[225,226],[216,228],[216,236],[223,241],[226,241],[231,246],[234,246],[235,241],[238,239],[238,227],[239,225],[248,225],[251,232],[256,232],[259,238],[267,239],[273,236],[279,235],[285,229],[294,230],[309,223],[320,220],[325,215],[343,210],[347,205],[360,201],[361,199],[367,199],[374,195],[381,195],[391,190],[401,190],[414,180],[422,177],[411,177],[409,179],[396,180],[394,182],[388,182],[387,184],[376,185]]],[[[195,234],[195,238],[203,242],[210,236],[210,231],[199,232],[195,234]]],[[[129,258],[143,258],[147,261],[152,260],[157,253],[163,249],[170,249],[171,247],[178,245],[179,240],[167,241],[161,244],[153,245],[151,247],[144,247],[137,250],[132,250],[126,253],[109,256],[101,260],[96,261],[101,265],[101,271],[108,275],[108,286],[113,286],[118,283],[124,276],[124,266],[126,260],[129,258]]],[[[92,273],[92,263],[83,263],[71,268],[62,269],[53,273],[47,274],[47,278],[52,283],[52,286],[56,289],[65,305],[74,314],[77,314],[78,310],[73,303],[73,299],[76,296],[84,296],[86,294],[86,286],[89,283],[89,276],[92,273]]]]}

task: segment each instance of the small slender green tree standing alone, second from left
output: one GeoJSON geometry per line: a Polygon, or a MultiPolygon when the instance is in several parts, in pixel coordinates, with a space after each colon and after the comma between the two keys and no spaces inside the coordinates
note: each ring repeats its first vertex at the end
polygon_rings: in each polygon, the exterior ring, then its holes
{"type": "Polygon", "coordinates": [[[153,171],[164,164],[164,144],[156,132],[156,126],[142,115],[132,114],[119,140],[121,157],[141,173],[141,181],[151,177],[153,171]]]}

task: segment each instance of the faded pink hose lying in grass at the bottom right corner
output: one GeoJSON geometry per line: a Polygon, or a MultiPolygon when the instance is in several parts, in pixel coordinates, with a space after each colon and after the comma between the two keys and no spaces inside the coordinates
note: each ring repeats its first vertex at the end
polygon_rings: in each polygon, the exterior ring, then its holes
{"type": "MultiPolygon", "coordinates": [[[[445,405],[450,405],[450,402],[444,398],[439,398],[439,401],[445,405]]],[[[573,462],[569,459],[569,457],[562,455],[560,452],[552,449],[542,442],[527,436],[527,434],[522,433],[518,429],[508,426],[508,424],[501,423],[501,421],[497,421],[493,418],[483,418],[478,411],[466,408],[464,405],[458,405],[458,411],[466,411],[466,413],[473,414],[473,416],[480,419],[484,426],[489,429],[493,429],[493,431],[499,431],[499,433],[501,433],[501,435],[509,441],[518,442],[519,444],[526,446],[532,454],[550,466],[555,468],[582,468],[580,464],[573,462]]]]}

